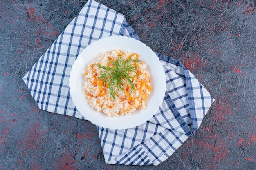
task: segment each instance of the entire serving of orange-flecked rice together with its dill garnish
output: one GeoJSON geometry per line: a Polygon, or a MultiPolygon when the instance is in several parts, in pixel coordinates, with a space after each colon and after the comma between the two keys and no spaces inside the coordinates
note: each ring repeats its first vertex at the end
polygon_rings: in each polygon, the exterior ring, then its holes
{"type": "Polygon", "coordinates": [[[113,50],[95,56],[84,73],[83,93],[92,108],[108,117],[146,109],[150,73],[137,53],[113,50]]]}

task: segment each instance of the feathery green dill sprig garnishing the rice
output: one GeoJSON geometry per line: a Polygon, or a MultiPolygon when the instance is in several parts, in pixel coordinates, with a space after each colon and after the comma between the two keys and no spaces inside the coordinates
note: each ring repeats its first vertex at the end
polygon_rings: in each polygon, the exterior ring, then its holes
{"type": "Polygon", "coordinates": [[[116,100],[116,95],[121,91],[124,91],[122,82],[125,79],[130,84],[130,94],[133,90],[135,90],[135,86],[131,80],[131,78],[137,77],[137,74],[134,77],[130,76],[130,73],[135,73],[137,68],[137,63],[140,62],[139,59],[133,59],[130,56],[127,60],[124,57],[118,56],[116,60],[110,60],[110,66],[101,66],[99,64],[95,64],[99,68],[103,69],[98,79],[103,80],[103,85],[106,86],[108,84],[108,89],[110,92],[110,96],[116,100]]]}

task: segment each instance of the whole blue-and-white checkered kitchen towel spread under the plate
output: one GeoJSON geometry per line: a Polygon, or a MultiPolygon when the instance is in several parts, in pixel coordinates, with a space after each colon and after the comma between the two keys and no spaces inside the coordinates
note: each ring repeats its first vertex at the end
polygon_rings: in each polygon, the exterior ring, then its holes
{"type": "MultiPolygon", "coordinates": [[[[77,55],[110,35],[139,40],[124,15],[89,0],[23,77],[42,110],[80,119],[69,94],[69,73],[77,55]]],[[[157,165],[194,135],[214,99],[177,60],[158,54],[166,74],[164,102],[146,123],[126,130],[97,127],[106,163],[157,165]]]]}

